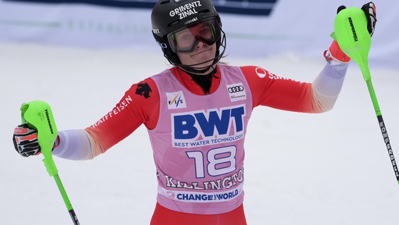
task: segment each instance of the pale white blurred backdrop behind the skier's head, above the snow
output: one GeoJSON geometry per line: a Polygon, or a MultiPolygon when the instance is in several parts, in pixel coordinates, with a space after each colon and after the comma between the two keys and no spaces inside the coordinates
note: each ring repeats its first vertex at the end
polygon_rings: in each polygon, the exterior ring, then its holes
{"type": "MultiPolygon", "coordinates": [[[[291,51],[320,56],[330,45],[337,7],[361,7],[365,2],[279,0],[269,16],[221,13],[228,36],[227,53],[264,57],[291,51]]],[[[399,67],[399,1],[376,1],[376,5],[378,22],[370,65],[399,67]]],[[[151,34],[150,13],[149,9],[0,0],[0,41],[158,49],[151,34]]]]}

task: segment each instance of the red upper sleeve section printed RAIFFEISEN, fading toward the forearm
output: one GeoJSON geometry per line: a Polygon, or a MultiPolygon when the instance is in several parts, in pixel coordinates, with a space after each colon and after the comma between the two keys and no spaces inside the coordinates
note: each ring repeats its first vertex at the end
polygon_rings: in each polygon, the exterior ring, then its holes
{"type": "Polygon", "coordinates": [[[133,84],[110,112],[85,130],[93,137],[95,148],[99,147],[99,152],[104,153],[143,123],[149,129],[155,128],[159,101],[154,80],[147,78],[133,84]]]}

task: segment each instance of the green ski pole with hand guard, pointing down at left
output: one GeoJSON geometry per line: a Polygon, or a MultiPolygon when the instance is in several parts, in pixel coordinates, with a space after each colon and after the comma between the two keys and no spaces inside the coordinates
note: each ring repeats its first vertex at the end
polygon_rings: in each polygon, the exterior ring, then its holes
{"type": "Polygon", "coordinates": [[[51,154],[54,141],[56,141],[58,135],[58,130],[49,104],[43,101],[34,101],[22,104],[21,119],[22,123],[27,123],[29,128],[34,128],[38,131],[38,143],[40,145],[41,152],[45,157],[43,159],[43,163],[45,163],[45,167],[47,168],[49,175],[56,180],[56,184],[60,190],[62,199],[66,205],[66,209],[68,209],[69,215],[71,215],[73,224],[79,225],[79,221],[77,220],[75,211],[73,211],[72,204],[66,195],[64,185],[62,185],[60,176],[58,176],[58,170],[53,161],[53,155],[51,154]]]}

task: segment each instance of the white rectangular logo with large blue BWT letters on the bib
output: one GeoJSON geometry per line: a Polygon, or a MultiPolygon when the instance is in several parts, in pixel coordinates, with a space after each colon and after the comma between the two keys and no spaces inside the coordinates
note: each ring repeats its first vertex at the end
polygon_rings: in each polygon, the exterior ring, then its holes
{"type": "Polygon", "coordinates": [[[245,105],[172,114],[173,142],[241,139],[245,126],[244,117],[245,105]]]}

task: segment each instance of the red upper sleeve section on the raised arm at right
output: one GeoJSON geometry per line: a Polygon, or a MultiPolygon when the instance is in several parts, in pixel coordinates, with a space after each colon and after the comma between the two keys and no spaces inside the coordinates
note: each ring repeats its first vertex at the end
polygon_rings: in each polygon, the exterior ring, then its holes
{"type": "Polygon", "coordinates": [[[311,83],[279,77],[261,67],[241,67],[251,88],[253,107],[269,106],[295,112],[319,112],[311,83]]]}

